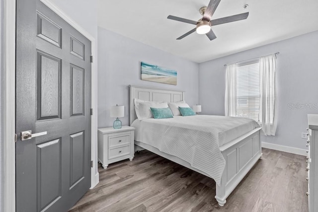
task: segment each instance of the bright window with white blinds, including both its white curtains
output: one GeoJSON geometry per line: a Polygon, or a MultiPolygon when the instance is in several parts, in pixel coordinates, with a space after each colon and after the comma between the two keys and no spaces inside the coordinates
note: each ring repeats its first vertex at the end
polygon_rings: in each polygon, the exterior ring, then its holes
{"type": "Polygon", "coordinates": [[[257,121],[266,136],[275,136],[276,54],[227,65],[225,115],[257,121]]]}

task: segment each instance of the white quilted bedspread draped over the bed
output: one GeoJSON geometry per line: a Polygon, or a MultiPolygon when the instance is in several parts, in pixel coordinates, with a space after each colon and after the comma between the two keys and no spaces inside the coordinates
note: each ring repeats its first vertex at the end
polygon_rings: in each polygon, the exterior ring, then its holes
{"type": "Polygon", "coordinates": [[[248,118],[225,116],[176,116],[170,119],[138,119],[135,140],[177,156],[211,176],[220,185],[225,159],[219,146],[258,128],[248,118]]]}

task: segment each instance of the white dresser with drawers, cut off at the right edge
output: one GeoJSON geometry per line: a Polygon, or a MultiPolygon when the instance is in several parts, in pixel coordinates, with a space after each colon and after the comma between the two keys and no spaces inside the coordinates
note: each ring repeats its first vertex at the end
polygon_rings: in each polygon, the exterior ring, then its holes
{"type": "Polygon", "coordinates": [[[318,212],[318,114],[308,114],[308,196],[309,212],[318,212]]]}

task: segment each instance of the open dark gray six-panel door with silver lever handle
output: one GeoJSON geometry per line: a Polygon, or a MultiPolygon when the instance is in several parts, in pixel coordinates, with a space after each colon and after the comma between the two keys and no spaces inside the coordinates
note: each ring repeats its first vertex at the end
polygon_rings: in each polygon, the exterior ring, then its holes
{"type": "Polygon", "coordinates": [[[90,41],[40,0],[16,11],[16,211],[63,212],[90,187],[90,41]]]}

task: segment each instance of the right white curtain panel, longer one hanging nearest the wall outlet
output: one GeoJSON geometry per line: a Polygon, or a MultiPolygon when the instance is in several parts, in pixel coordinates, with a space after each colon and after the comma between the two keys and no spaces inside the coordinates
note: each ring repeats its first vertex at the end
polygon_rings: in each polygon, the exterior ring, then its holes
{"type": "Polygon", "coordinates": [[[266,136],[275,136],[277,127],[275,68],[275,55],[259,58],[259,121],[266,136]]]}

